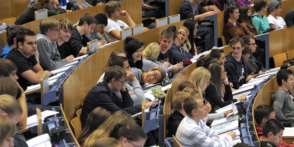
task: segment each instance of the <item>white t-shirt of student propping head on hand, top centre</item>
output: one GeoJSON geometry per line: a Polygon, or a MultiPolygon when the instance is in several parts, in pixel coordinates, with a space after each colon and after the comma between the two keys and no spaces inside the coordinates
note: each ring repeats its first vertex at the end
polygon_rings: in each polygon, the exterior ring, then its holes
{"type": "Polygon", "coordinates": [[[114,20],[111,20],[110,18],[108,18],[107,21],[108,21],[108,24],[104,28],[103,34],[106,38],[106,41],[109,43],[113,42],[113,41],[117,41],[117,39],[115,39],[113,36],[111,36],[109,34],[109,32],[111,32],[112,30],[115,30],[115,29],[118,32],[120,32],[120,30],[123,30],[123,29],[126,29],[129,27],[127,23],[125,23],[124,21],[121,21],[121,20],[114,21],[114,20]]]}

